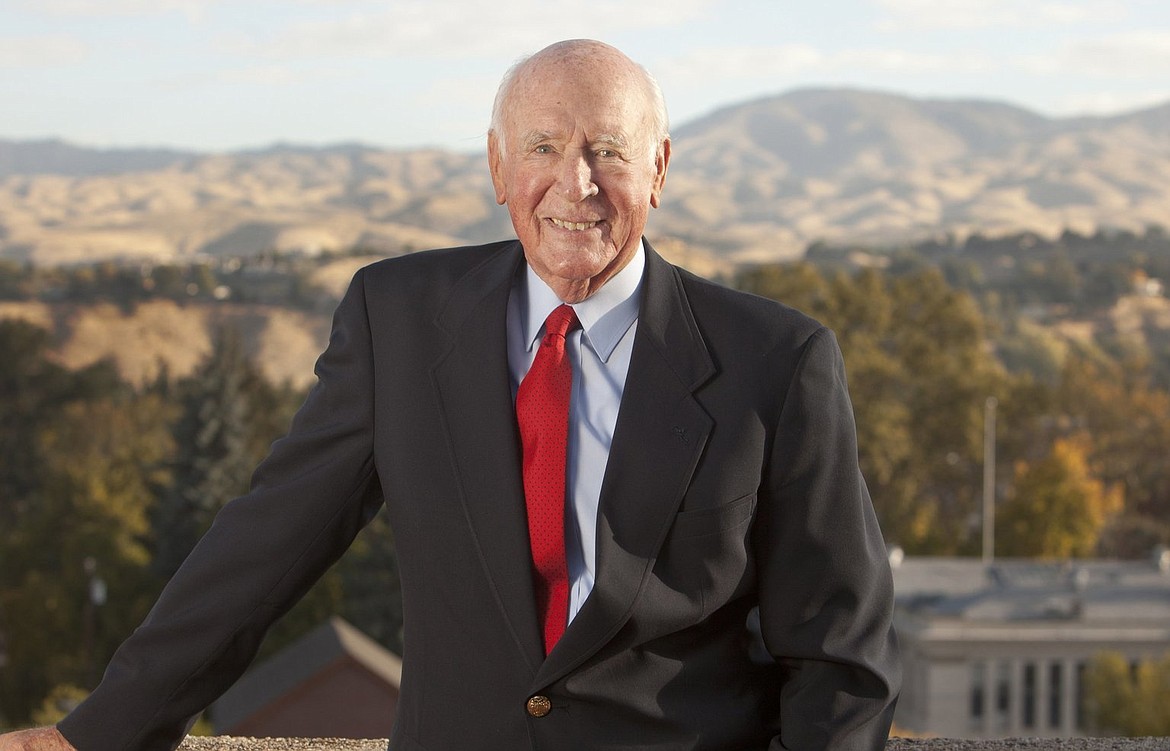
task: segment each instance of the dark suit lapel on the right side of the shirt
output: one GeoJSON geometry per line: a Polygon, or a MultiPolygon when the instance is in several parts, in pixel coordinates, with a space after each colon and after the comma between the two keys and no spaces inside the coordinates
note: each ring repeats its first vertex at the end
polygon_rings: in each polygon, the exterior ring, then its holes
{"type": "Polygon", "coordinates": [[[601,484],[597,581],[541,666],[537,687],[579,666],[629,619],[711,430],[694,391],[715,366],[675,269],[648,243],[642,295],[601,484]]]}

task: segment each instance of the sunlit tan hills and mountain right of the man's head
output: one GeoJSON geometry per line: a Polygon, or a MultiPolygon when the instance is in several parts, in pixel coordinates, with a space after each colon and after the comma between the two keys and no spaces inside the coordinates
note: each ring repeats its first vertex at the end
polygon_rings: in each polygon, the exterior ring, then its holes
{"type": "Polygon", "coordinates": [[[817,240],[1137,230],[1170,216],[1168,138],[1170,103],[1051,118],[1002,102],[798,90],[674,129],[663,226],[739,261],[817,240]]]}

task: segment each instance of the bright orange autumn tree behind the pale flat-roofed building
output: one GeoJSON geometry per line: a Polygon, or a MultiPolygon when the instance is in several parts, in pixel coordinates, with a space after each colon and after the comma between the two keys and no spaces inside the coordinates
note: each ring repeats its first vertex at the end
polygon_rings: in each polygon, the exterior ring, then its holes
{"type": "Polygon", "coordinates": [[[1089,467],[1083,435],[1058,439],[1047,456],[1016,464],[1012,496],[1000,507],[997,543],[1003,554],[1089,557],[1106,524],[1123,508],[1121,489],[1089,467]]]}

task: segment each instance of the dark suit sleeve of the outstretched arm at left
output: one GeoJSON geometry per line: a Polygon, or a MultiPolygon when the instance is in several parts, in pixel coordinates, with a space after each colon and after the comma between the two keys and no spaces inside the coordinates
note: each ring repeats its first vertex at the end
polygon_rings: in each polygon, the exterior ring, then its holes
{"type": "Polygon", "coordinates": [[[264,633],[349,547],[381,497],[363,276],[333,317],[317,384],[60,730],[80,751],[173,749],[264,633]]]}

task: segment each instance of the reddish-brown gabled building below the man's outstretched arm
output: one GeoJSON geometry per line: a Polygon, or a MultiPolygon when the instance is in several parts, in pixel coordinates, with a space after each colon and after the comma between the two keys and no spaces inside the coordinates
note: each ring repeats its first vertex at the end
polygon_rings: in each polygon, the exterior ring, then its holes
{"type": "Polygon", "coordinates": [[[387,738],[401,660],[340,618],[260,663],[211,708],[215,732],[249,737],[387,738]]]}

